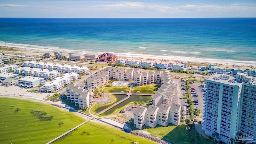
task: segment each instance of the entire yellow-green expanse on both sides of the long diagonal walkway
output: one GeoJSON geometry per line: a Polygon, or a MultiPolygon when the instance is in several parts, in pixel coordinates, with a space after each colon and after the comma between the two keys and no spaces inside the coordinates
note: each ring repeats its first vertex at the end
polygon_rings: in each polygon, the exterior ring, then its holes
{"type": "MultiPolygon", "coordinates": [[[[45,144],[84,122],[73,112],[16,98],[0,98],[0,143],[45,144]]],[[[55,143],[155,144],[107,124],[88,122],[55,143]]]]}

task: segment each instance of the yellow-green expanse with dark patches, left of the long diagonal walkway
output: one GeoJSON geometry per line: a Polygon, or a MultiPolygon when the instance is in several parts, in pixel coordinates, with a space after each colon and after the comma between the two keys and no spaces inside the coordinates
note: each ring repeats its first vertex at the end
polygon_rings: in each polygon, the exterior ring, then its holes
{"type": "Polygon", "coordinates": [[[0,115],[4,144],[45,144],[85,121],[50,104],[16,98],[0,98],[0,115]]]}

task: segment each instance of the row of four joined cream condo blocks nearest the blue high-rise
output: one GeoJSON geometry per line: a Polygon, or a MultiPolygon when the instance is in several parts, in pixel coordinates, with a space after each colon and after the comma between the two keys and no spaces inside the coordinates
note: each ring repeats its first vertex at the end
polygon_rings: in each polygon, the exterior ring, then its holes
{"type": "Polygon", "coordinates": [[[137,106],[133,113],[134,127],[142,129],[149,126],[155,128],[156,125],[167,126],[169,123],[179,125],[186,118],[186,107],[178,104],[170,106],[161,104],[158,106],[150,105],[148,108],[137,106]]]}

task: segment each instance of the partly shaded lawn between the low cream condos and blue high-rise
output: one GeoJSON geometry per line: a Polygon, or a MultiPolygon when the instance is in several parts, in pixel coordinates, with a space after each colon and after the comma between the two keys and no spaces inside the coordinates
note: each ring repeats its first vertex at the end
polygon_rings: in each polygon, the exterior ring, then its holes
{"type": "MultiPolygon", "coordinates": [[[[161,138],[172,144],[191,144],[189,131],[186,131],[186,124],[180,126],[169,125],[168,127],[156,126],[156,128],[145,128],[152,136],[161,138]]],[[[198,144],[215,144],[201,134],[197,134],[198,144]]]]}

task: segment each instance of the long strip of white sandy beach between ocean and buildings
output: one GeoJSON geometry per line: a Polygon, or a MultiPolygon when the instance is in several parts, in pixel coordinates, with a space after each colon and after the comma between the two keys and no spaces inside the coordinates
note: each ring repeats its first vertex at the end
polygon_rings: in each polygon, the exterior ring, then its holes
{"type": "MultiPolygon", "coordinates": [[[[37,46],[35,47],[22,47],[22,44],[16,44],[16,46],[4,46],[6,43],[0,43],[0,52],[8,53],[8,54],[18,54],[18,55],[30,55],[30,56],[40,56],[43,55],[44,52],[51,52],[54,50],[60,50],[64,52],[77,52],[85,54],[86,51],[81,50],[72,50],[72,49],[64,49],[64,48],[57,48],[50,49],[51,47],[44,47],[44,46],[37,46]],[[44,48],[44,49],[42,49],[44,48]]],[[[53,48],[53,47],[52,47],[53,48]]],[[[96,55],[102,54],[104,52],[93,52],[96,55]]],[[[110,52],[115,54],[119,57],[119,59],[130,59],[130,60],[142,60],[146,61],[149,60],[154,62],[155,60],[162,60],[162,61],[185,61],[190,62],[192,64],[222,64],[222,65],[236,65],[236,66],[250,66],[256,67],[256,61],[235,61],[235,60],[228,60],[228,59],[213,59],[213,58],[196,58],[196,57],[185,57],[185,56],[167,56],[167,55],[152,55],[152,54],[136,54],[135,52],[128,52],[128,53],[116,53],[110,52]]]]}

